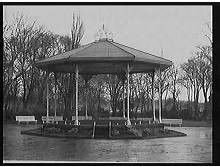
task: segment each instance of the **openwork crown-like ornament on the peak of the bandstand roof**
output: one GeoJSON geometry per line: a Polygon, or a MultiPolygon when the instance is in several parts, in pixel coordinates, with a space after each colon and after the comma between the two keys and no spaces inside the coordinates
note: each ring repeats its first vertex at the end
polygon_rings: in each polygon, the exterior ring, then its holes
{"type": "Polygon", "coordinates": [[[98,30],[95,34],[95,41],[113,41],[113,34],[110,30],[105,28],[105,25],[102,25],[102,28],[98,30]]]}

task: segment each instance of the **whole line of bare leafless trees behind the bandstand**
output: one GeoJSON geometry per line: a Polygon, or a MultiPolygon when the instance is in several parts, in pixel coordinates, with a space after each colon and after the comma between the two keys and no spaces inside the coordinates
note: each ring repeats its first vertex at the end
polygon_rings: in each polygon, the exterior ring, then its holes
{"type": "MultiPolygon", "coordinates": [[[[163,118],[210,119],[212,102],[212,30],[205,34],[209,45],[195,48],[193,56],[180,67],[171,66],[159,73],[130,75],[131,117],[152,117],[152,86],[158,106],[159,84],[163,118]],[[152,85],[152,76],[155,82],[152,85]],[[183,88],[187,102],[179,100],[183,88]],[[200,112],[199,96],[204,97],[200,112]]],[[[63,36],[48,31],[23,14],[15,16],[3,26],[3,115],[13,120],[15,115],[46,115],[46,72],[34,66],[35,62],[81,46],[85,27],[79,15],[72,15],[71,35],[63,36]]],[[[120,75],[80,75],[79,114],[93,117],[126,116],[126,77],[120,75]],[[85,105],[87,101],[87,105],[85,105]],[[111,111],[111,112],[110,112],[111,111]]],[[[70,118],[74,115],[74,73],[50,73],[50,115],[70,118]]],[[[158,108],[156,107],[156,114],[158,108]]]]}

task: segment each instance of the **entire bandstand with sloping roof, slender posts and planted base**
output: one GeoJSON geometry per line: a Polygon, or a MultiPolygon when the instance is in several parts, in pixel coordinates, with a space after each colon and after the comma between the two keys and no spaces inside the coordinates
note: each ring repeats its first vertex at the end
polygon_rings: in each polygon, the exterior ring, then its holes
{"type": "MultiPolygon", "coordinates": [[[[104,138],[104,139],[149,139],[158,137],[177,137],[186,136],[186,134],[164,128],[161,119],[161,87],[159,84],[159,118],[156,119],[155,101],[154,101],[154,74],[159,73],[159,83],[161,80],[161,71],[165,70],[173,63],[167,59],[119,44],[109,38],[100,38],[99,40],[83,45],[77,49],[65,53],[57,54],[49,58],[36,62],[36,67],[47,72],[47,116],[46,123],[41,128],[21,131],[22,134],[46,136],[46,137],[64,137],[64,138],[104,138]],[[50,122],[49,120],[49,73],[74,73],[75,74],[75,116],[73,124],[50,122]],[[133,73],[152,73],[152,108],[153,118],[147,122],[133,122],[130,119],[129,112],[129,76],[133,73]],[[123,121],[105,120],[107,124],[96,125],[102,120],[90,120],[90,124],[84,122],[80,124],[78,110],[78,82],[79,75],[83,75],[87,83],[92,75],[97,74],[115,74],[126,75],[127,80],[127,117],[125,118],[125,91],[123,91],[123,121]],[[126,120],[124,120],[126,119],[126,120]],[[119,125],[120,123],[120,125],[119,125]],[[122,123],[122,124],[121,124],[122,123]]],[[[125,79],[124,79],[125,80],[125,79]]],[[[55,82],[56,83],[56,82],[55,82]]],[[[123,81],[123,84],[125,82],[123,81]]],[[[55,85],[56,87],[56,85],[55,85]]],[[[123,86],[124,87],[124,86],[123,86]]],[[[56,89],[55,89],[56,90],[56,89]]],[[[87,99],[87,98],[86,98],[87,99]]],[[[87,106],[87,100],[86,100],[87,106]]],[[[56,104],[55,104],[56,105],[56,104]]],[[[87,107],[86,107],[87,110],[87,107]]],[[[56,113],[56,112],[55,112],[56,113]]],[[[86,111],[86,118],[87,118],[86,111]]],[[[72,121],[72,120],[71,120],[72,121]]],[[[135,120],[137,121],[137,120],[135,120]]]]}

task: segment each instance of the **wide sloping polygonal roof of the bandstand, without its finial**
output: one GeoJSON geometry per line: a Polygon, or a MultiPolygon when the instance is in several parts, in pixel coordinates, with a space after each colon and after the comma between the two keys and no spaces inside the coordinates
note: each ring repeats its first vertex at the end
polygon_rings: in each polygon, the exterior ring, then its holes
{"type": "Polygon", "coordinates": [[[35,63],[38,68],[50,72],[74,72],[78,64],[80,74],[124,73],[126,63],[130,73],[164,70],[173,63],[170,60],[146,53],[108,39],[83,45],[77,49],[54,55],[35,63]]]}

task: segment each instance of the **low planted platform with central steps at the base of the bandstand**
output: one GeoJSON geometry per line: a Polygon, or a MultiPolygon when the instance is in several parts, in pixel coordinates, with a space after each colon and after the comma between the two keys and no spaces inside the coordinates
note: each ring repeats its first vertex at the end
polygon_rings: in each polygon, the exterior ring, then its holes
{"type": "Polygon", "coordinates": [[[73,124],[43,124],[41,128],[21,131],[21,134],[84,139],[152,139],[164,137],[179,137],[186,134],[164,129],[163,124],[126,125],[73,125],[73,124]]]}

